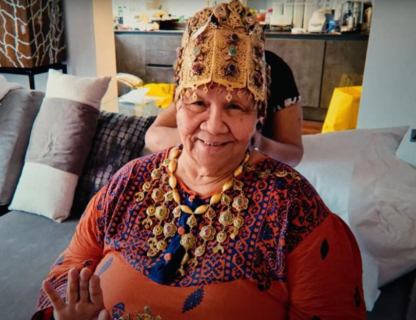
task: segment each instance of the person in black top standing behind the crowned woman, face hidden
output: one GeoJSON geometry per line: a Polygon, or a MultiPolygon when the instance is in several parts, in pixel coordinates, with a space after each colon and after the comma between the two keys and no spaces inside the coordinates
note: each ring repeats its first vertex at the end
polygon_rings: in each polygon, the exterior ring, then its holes
{"type": "MultiPolygon", "coordinates": [[[[270,96],[265,122],[262,130],[256,131],[252,146],[295,167],[303,156],[301,97],[292,70],[283,59],[267,50],[265,57],[271,69],[270,96]]],[[[175,114],[176,108],[172,104],[157,116],[146,132],[145,142],[151,152],[164,150],[180,142],[175,114]]],[[[260,127],[261,124],[258,124],[257,129],[260,127]]]]}

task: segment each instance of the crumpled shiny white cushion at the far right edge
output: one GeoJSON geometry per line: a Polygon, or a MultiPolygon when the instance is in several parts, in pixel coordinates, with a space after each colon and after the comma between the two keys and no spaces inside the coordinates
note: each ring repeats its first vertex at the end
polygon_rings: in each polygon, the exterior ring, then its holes
{"type": "Polygon", "coordinates": [[[393,154],[363,149],[353,168],[349,222],[377,259],[379,286],[416,267],[416,170],[393,154]]]}

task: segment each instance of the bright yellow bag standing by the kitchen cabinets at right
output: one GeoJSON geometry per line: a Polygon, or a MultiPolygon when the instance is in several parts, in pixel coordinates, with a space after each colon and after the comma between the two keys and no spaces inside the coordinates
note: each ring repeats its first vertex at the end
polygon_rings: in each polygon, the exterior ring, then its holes
{"type": "Polygon", "coordinates": [[[356,128],[361,90],[361,86],[334,89],[322,132],[356,128]]]}

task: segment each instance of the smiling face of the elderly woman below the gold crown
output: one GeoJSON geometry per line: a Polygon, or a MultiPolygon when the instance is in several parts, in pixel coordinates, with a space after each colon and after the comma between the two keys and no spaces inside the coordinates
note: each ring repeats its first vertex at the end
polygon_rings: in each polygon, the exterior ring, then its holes
{"type": "Polygon", "coordinates": [[[247,89],[237,92],[231,91],[232,99],[228,102],[224,86],[210,85],[206,93],[200,86],[196,97],[184,95],[176,105],[177,128],[184,149],[201,166],[214,170],[235,166],[247,150],[255,132],[257,110],[247,89]]]}

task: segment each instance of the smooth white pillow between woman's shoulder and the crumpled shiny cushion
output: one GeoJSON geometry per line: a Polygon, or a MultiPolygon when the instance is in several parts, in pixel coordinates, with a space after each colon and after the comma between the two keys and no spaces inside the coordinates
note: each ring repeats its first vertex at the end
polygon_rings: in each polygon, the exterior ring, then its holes
{"type": "MultiPolygon", "coordinates": [[[[308,179],[328,208],[350,226],[357,238],[363,262],[363,289],[367,310],[372,309],[380,293],[380,261],[365,249],[351,224],[349,205],[353,171],[355,164],[362,161],[363,150],[374,150],[373,157],[375,154],[381,157],[394,155],[407,129],[408,127],[356,129],[302,137],[304,156],[296,170],[308,179]]],[[[362,190],[361,197],[356,201],[366,198],[366,193],[369,192],[362,190]]]]}

